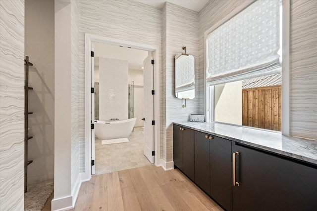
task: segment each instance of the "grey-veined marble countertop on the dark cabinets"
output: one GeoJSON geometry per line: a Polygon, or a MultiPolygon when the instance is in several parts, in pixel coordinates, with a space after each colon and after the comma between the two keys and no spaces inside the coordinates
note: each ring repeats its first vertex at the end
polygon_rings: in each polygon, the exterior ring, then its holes
{"type": "Polygon", "coordinates": [[[279,132],[220,123],[177,122],[174,124],[317,165],[317,141],[288,137],[279,132]]]}

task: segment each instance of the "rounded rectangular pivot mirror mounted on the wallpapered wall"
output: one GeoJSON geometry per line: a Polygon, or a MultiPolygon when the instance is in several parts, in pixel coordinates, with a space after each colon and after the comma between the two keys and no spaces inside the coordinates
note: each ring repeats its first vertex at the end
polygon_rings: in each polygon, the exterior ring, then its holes
{"type": "Polygon", "coordinates": [[[178,99],[195,97],[195,58],[192,55],[175,55],[175,96],[178,99]]]}

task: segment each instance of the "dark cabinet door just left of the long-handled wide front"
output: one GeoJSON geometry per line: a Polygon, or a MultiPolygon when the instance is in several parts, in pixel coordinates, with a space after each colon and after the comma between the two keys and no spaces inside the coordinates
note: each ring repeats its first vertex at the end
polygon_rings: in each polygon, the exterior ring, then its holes
{"type": "Polygon", "coordinates": [[[210,195],[227,211],[232,210],[231,141],[216,136],[210,140],[210,195]]]}

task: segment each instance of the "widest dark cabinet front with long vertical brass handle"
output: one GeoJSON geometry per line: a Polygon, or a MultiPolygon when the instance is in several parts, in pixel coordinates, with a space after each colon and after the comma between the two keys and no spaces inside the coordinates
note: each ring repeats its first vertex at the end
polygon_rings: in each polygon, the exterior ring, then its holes
{"type": "Polygon", "coordinates": [[[233,180],[236,180],[232,186],[232,210],[317,210],[317,168],[314,165],[235,142],[232,149],[233,180]]]}

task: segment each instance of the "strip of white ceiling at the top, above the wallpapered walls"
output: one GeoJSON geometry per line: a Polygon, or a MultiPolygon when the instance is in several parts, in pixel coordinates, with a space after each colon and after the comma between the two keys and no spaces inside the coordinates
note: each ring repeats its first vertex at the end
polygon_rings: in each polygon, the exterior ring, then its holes
{"type": "Polygon", "coordinates": [[[199,12],[209,0],[136,0],[154,7],[163,8],[166,1],[199,12]]]}

